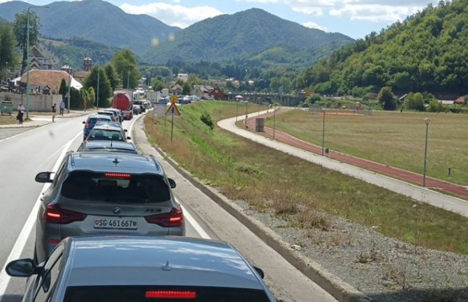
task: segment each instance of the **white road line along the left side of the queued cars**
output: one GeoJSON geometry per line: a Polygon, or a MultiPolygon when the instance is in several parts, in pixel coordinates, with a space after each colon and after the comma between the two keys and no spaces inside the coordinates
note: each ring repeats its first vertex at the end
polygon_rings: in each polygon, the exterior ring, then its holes
{"type": "MultiPolygon", "coordinates": [[[[52,172],[57,172],[57,169],[59,169],[59,165],[61,163],[61,160],[64,159],[66,152],[68,149],[70,149],[71,144],[73,141],[78,137],[82,135],[82,133],[78,133],[78,135],[75,135],[73,139],[71,139],[69,142],[67,142],[63,150],[60,153],[59,158],[57,158],[57,162],[55,163],[54,167],[52,168],[52,172]]],[[[3,268],[1,268],[0,271],[0,302],[3,299],[3,296],[5,295],[6,288],[8,287],[8,283],[10,283],[11,277],[6,273],[5,269],[8,264],[8,262],[13,261],[15,259],[19,259],[21,257],[22,251],[24,250],[24,246],[26,246],[27,239],[29,237],[29,234],[31,234],[31,231],[34,227],[34,224],[36,222],[36,215],[37,211],[39,209],[39,206],[41,205],[41,197],[42,197],[42,192],[47,190],[47,188],[50,186],[50,183],[45,183],[43,186],[43,189],[41,190],[41,194],[39,194],[39,197],[36,199],[36,203],[33,206],[33,209],[31,210],[31,213],[29,213],[29,216],[24,223],[24,226],[20,232],[20,235],[18,235],[18,238],[16,239],[15,245],[13,246],[10,255],[8,255],[8,258],[6,258],[5,265],[3,268]]]]}

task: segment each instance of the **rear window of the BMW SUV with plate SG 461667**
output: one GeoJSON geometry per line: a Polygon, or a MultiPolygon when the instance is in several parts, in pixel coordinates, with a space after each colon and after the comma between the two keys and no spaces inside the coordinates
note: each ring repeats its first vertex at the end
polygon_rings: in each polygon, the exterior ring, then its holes
{"type": "Polygon", "coordinates": [[[159,203],[170,199],[162,176],[154,174],[72,172],[61,187],[70,199],[114,203],[159,203]]]}

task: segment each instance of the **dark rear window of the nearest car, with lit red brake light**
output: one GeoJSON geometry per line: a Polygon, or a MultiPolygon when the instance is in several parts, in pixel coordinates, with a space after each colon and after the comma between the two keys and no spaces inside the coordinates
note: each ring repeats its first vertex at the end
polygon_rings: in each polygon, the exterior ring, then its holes
{"type": "Polygon", "coordinates": [[[64,302],[270,302],[261,289],[235,287],[67,287],[64,302]],[[171,298],[161,298],[172,296],[171,298]]]}

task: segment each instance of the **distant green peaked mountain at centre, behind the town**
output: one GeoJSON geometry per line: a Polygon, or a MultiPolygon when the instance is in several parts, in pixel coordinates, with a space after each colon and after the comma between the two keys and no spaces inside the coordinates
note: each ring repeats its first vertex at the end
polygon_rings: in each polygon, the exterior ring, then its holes
{"type": "Polygon", "coordinates": [[[351,42],[353,39],[341,33],[309,29],[265,10],[251,8],[197,22],[177,32],[173,42],[161,43],[152,48],[145,54],[145,58],[152,63],[222,62],[251,56],[257,56],[257,59],[268,56],[272,61],[291,61],[295,54],[305,52],[306,57],[301,58],[302,62],[305,59],[307,63],[307,56],[328,54],[330,49],[335,50],[351,42]],[[277,47],[281,47],[283,53],[277,52],[277,47]],[[280,57],[277,58],[276,54],[280,57]]]}

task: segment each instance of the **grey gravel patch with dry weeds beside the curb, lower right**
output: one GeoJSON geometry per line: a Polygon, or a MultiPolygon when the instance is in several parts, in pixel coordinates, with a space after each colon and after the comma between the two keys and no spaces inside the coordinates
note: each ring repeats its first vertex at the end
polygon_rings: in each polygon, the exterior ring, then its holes
{"type": "Polygon", "coordinates": [[[376,302],[468,301],[468,257],[390,239],[367,228],[326,215],[329,231],[296,229],[274,213],[259,213],[235,201],[249,216],[376,302]]]}

